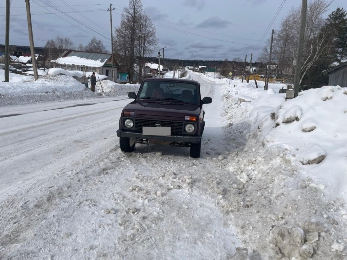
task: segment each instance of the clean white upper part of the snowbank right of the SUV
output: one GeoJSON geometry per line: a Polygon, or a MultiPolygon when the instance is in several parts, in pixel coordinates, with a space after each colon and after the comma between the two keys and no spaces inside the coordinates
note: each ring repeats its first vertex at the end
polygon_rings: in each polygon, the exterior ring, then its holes
{"type": "Polygon", "coordinates": [[[281,150],[292,162],[307,164],[303,170],[325,183],[331,198],[342,196],[347,200],[347,135],[341,124],[347,122],[346,90],[324,86],[285,101],[285,94],[278,93],[283,84],[272,84],[263,91],[262,85],[255,88],[254,81],[241,83],[237,79],[231,85],[228,79],[224,82],[227,103],[229,95],[239,99],[239,115],[249,116],[257,142],[269,151],[281,150]]]}

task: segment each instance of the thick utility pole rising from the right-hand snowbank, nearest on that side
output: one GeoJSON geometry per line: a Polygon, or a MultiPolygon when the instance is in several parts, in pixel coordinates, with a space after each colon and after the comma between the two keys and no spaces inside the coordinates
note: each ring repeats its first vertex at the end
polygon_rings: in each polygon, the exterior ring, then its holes
{"type": "Polygon", "coordinates": [[[302,0],[298,53],[296,57],[295,76],[294,76],[294,97],[297,97],[299,95],[300,69],[301,69],[302,51],[304,47],[306,13],[307,13],[307,0],[302,0]]]}

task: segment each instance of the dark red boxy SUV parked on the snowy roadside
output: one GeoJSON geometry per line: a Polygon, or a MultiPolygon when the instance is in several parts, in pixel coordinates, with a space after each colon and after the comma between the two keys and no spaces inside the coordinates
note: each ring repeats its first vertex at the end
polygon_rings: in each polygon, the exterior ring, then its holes
{"type": "Polygon", "coordinates": [[[190,147],[190,156],[200,157],[204,131],[200,84],[194,80],[148,78],[142,81],[135,99],[123,108],[119,120],[119,145],[123,152],[132,152],[135,144],[163,143],[190,147]]]}

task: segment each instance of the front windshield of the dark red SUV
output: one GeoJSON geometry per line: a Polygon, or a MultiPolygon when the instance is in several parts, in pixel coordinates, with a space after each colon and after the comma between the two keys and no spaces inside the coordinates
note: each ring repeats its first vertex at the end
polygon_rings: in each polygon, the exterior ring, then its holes
{"type": "Polygon", "coordinates": [[[145,82],[137,94],[138,99],[176,100],[199,104],[200,93],[196,84],[170,81],[145,82]]]}

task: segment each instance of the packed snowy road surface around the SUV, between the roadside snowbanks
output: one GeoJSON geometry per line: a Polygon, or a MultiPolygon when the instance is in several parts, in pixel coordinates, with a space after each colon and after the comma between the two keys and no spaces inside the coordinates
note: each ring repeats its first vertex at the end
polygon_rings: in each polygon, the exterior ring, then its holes
{"type": "Polygon", "coordinates": [[[122,153],[116,129],[128,99],[3,107],[0,258],[233,255],[238,241],[214,192],[214,159],[227,150],[216,127],[222,95],[203,82],[207,95],[199,160],[159,145],[122,153]]]}

